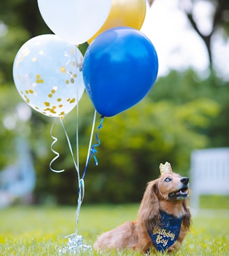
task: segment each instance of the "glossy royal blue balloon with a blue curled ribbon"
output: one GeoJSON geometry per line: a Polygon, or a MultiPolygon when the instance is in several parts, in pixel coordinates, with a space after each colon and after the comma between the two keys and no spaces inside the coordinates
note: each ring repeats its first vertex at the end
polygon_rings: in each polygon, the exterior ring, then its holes
{"type": "Polygon", "coordinates": [[[158,73],[158,57],[145,34],[130,27],[115,27],[89,45],[82,70],[96,111],[111,117],[148,94],[158,73]]]}

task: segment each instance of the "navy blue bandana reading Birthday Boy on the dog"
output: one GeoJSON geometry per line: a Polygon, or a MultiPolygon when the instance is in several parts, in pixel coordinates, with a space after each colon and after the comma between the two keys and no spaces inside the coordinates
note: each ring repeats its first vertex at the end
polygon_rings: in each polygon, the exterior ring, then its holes
{"type": "Polygon", "coordinates": [[[160,211],[160,213],[160,227],[155,226],[153,232],[148,231],[148,233],[156,250],[164,252],[177,241],[182,226],[182,218],[175,218],[174,215],[164,211],[160,211]]]}

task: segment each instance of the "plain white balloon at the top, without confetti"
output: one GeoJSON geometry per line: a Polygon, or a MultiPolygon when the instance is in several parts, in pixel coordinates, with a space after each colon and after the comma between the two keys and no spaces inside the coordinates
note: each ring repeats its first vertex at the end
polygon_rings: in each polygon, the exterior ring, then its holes
{"type": "Polygon", "coordinates": [[[38,8],[48,27],[64,41],[86,42],[101,28],[112,0],[38,0],[38,8]]]}

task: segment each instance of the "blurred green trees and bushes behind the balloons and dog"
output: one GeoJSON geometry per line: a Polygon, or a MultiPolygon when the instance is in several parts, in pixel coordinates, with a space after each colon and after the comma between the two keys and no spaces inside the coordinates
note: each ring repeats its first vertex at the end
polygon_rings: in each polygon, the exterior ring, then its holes
{"type": "MultiPolygon", "coordinates": [[[[193,4],[198,1],[191,1],[193,4]]],[[[217,4],[227,1],[212,1],[217,4]]],[[[225,6],[224,10],[228,6],[225,6]]],[[[228,31],[228,21],[218,28],[228,31]]],[[[24,122],[18,118],[22,99],[13,85],[12,65],[17,50],[33,36],[50,33],[38,12],[36,0],[9,0],[0,3],[0,169],[17,161],[15,138],[29,139],[36,167],[36,201],[75,204],[77,176],[61,125],[54,126],[59,141],[54,163],[64,173],[52,173],[49,163],[52,118],[32,111],[24,122]]],[[[211,49],[210,49],[211,50],[211,49]]],[[[91,159],[85,177],[85,201],[140,201],[147,181],[158,176],[160,162],[169,161],[173,169],[188,175],[190,153],[195,148],[229,146],[229,82],[220,78],[209,62],[209,76],[195,71],[170,71],[158,78],[149,95],[128,111],[105,118],[100,133],[101,145],[91,159]]],[[[84,169],[94,108],[87,94],[79,104],[80,170],[84,169]]],[[[97,124],[99,124],[99,116],[97,124]]],[[[64,118],[75,149],[76,111],[64,118]]]]}

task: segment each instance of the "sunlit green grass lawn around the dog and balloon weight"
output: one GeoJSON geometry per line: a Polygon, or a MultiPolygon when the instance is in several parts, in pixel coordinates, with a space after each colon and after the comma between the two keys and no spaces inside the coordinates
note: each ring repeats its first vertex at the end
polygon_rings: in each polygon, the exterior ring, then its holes
{"type": "MultiPolygon", "coordinates": [[[[78,234],[92,245],[98,234],[136,218],[138,204],[82,205],[78,234]]],[[[59,255],[74,232],[75,207],[13,206],[0,210],[0,255],[59,255]]],[[[176,255],[228,255],[229,214],[205,210],[193,216],[191,232],[176,255]]],[[[65,253],[62,255],[73,255],[65,253]]],[[[95,251],[80,255],[98,255],[95,251]]],[[[140,255],[131,251],[103,255],[140,255]]],[[[158,254],[161,255],[161,254],[158,254]]]]}

